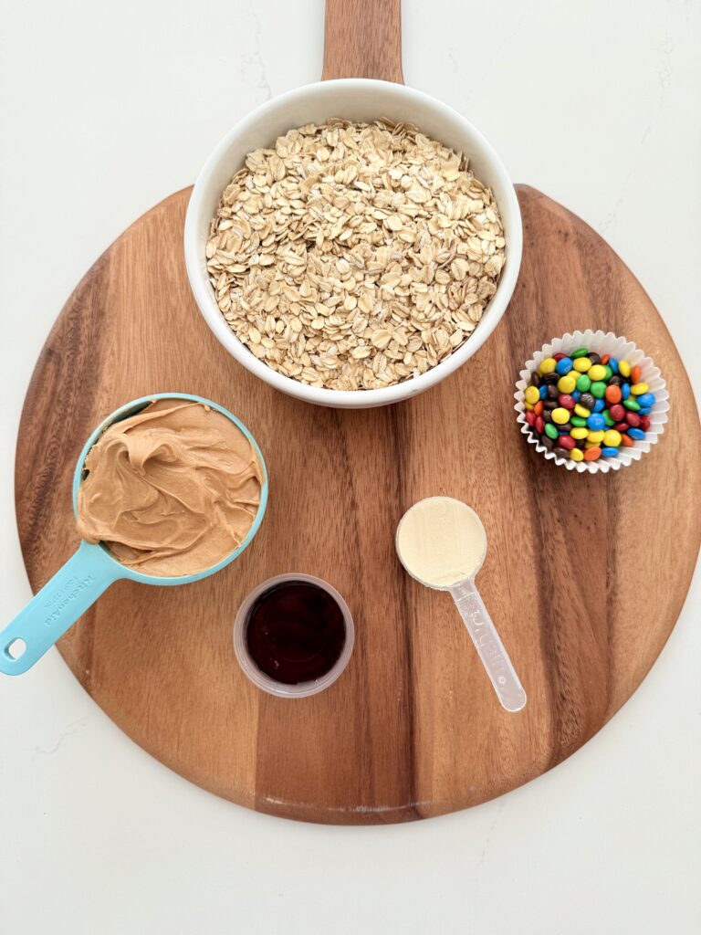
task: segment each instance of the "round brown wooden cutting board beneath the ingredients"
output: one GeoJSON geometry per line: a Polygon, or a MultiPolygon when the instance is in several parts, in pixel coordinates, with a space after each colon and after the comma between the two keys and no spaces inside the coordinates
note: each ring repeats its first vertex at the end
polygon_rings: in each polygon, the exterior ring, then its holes
{"type": "MultiPolygon", "coordinates": [[[[327,48],[326,74],[332,58],[327,48]]],[[[590,227],[520,187],[521,276],[479,353],[399,406],[318,409],[256,380],[208,331],[182,256],[188,194],[150,210],[93,266],[36,365],[17,449],[24,560],[36,590],[72,553],[80,448],[109,411],[150,393],[193,392],[240,416],[265,453],[269,510],[250,549],[213,578],[114,585],[61,641],[64,659],[152,755],[267,813],[403,821],[549,770],[645,677],[698,552],[701,430],[650,299],[590,227]],[[668,383],[665,435],[629,469],[555,468],[516,424],[522,361],[578,327],[634,340],[668,383]],[[410,580],[395,557],[399,518],[434,494],[465,500],[487,529],[479,587],[528,695],[518,714],[497,704],[451,597],[410,580]],[[333,583],[356,626],[349,669],[302,700],[256,689],[232,642],[242,597],[285,571],[333,583]]]]}

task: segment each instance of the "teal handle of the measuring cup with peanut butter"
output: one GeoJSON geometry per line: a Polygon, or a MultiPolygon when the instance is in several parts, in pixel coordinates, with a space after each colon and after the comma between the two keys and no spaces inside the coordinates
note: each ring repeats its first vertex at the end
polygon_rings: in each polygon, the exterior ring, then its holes
{"type": "Polygon", "coordinates": [[[120,577],[120,566],[99,545],[82,542],[78,552],[0,631],[0,672],[21,675],[31,669],[80,614],[120,577]],[[23,651],[21,645],[13,647],[16,640],[25,644],[23,651]]]}

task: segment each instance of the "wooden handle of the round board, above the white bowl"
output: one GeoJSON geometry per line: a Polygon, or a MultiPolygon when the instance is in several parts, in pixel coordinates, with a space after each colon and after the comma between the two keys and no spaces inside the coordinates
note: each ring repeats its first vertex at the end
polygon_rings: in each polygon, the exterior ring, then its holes
{"type": "Polygon", "coordinates": [[[401,0],[326,0],[322,80],[404,84],[401,0]]]}

